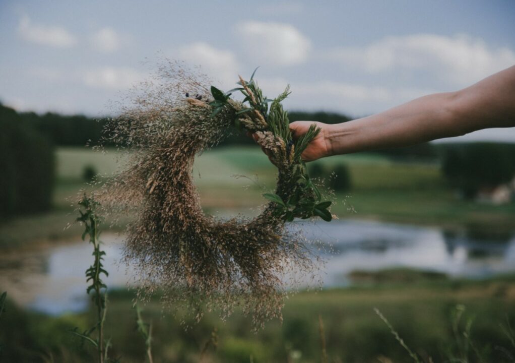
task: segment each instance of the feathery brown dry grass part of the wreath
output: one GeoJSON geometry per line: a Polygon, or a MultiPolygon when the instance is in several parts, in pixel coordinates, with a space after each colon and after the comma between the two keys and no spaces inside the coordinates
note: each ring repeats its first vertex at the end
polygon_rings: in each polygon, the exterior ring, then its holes
{"type": "Polygon", "coordinates": [[[97,199],[108,212],[137,215],[127,227],[125,260],[138,272],[141,297],[164,290],[168,305],[197,319],[211,309],[225,318],[241,306],[258,328],[281,318],[292,282],[285,286],[284,276],[313,273],[317,264],[272,203],[253,219],[203,213],[192,178],[195,156],[216,145],[236,117],[232,108],[211,117],[205,84],[204,75],[168,62],[133,90],[133,102],[105,136],[130,150],[131,159],[97,199]]]}

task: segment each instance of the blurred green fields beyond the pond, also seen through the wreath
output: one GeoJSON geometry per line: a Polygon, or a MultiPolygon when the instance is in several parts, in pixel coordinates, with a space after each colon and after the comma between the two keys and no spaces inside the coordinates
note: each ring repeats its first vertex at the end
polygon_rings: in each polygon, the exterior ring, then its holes
{"type": "MultiPolygon", "coordinates": [[[[73,220],[69,197],[84,187],[84,168],[101,175],[117,169],[114,150],[59,148],[56,152],[57,185],[54,210],[17,218],[0,226],[0,246],[33,245],[31,241],[65,239],[78,229],[63,231],[73,220]],[[30,228],[27,228],[30,226],[30,228]]],[[[514,230],[515,203],[479,204],[457,198],[436,164],[395,163],[384,157],[355,154],[323,159],[327,174],[339,163],[348,165],[352,188],[336,195],[333,213],[339,218],[362,218],[400,223],[431,224],[445,228],[514,230]]],[[[219,215],[259,213],[263,193],[273,189],[276,169],[258,147],[228,147],[205,152],[196,159],[194,177],[202,206],[219,215]]]]}

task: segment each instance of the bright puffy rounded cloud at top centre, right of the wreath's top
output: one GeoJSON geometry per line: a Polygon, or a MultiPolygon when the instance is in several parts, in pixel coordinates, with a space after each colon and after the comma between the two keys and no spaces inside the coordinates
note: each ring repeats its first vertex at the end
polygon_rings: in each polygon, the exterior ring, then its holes
{"type": "Polygon", "coordinates": [[[238,24],[236,31],[246,53],[256,63],[292,65],[309,56],[310,40],[293,25],[248,21],[238,24]]]}

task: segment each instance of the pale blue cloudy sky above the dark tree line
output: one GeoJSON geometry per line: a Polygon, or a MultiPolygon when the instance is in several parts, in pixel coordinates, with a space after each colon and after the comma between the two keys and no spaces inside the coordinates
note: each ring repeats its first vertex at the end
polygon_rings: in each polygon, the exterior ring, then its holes
{"type": "MultiPolygon", "coordinates": [[[[515,1],[0,0],[0,102],[102,116],[164,58],[360,117],[515,64],[515,1]]],[[[515,128],[456,141],[515,142],[515,128]]]]}

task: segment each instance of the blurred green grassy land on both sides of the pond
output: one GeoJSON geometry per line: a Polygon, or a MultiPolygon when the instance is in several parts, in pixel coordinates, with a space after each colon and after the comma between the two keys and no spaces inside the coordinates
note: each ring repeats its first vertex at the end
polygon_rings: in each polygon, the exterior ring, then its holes
{"type": "MultiPolygon", "coordinates": [[[[118,157],[114,150],[101,154],[59,148],[53,210],[3,224],[3,251],[45,248],[79,235],[78,226],[63,230],[75,218],[66,198],[84,187],[85,168],[109,174],[118,157]]],[[[395,162],[366,154],[319,163],[328,174],[340,163],[349,168],[352,187],[336,194],[333,208],[340,219],[515,230],[513,203],[496,206],[457,198],[436,163],[395,162]]],[[[264,202],[261,194],[273,188],[276,174],[258,147],[227,147],[198,157],[194,175],[205,211],[226,216],[258,213],[264,202]]],[[[301,291],[286,300],[282,323],[270,321],[257,334],[240,312],[226,322],[213,312],[185,330],[177,318],[163,311],[157,296],[143,307],[143,318],[153,326],[154,362],[414,361],[374,308],[421,361],[513,361],[513,336],[505,333],[515,323],[515,276],[459,280],[397,270],[361,277],[349,288],[301,291]]],[[[84,291],[86,286],[84,282],[84,291]]],[[[133,298],[134,291],[109,290],[106,334],[112,337],[113,356],[124,362],[145,359],[144,338],[135,329],[133,298]]],[[[94,361],[92,350],[66,331],[75,326],[84,330],[93,322],[93,306],[84,313],[54,317],[24,310],[8,300],[0,318],[4,357],[6,361],[94,361]]]]}

